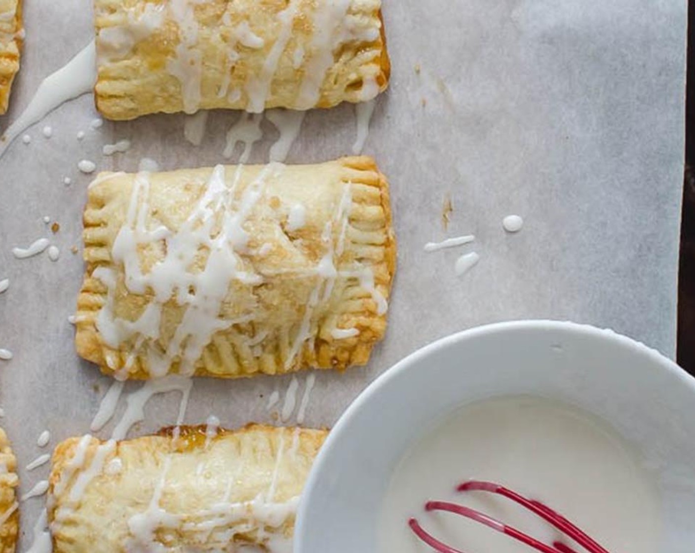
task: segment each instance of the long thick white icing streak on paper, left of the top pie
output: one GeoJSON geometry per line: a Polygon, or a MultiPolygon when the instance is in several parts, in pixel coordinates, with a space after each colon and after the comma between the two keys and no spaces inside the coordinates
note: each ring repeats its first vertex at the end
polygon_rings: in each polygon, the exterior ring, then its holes
{"type": "Polygon", "coordinates": [[[0,157],[17,136],[42,120],[60,104],[92,92],[97,60],[94,41],[55,73],[42,81],[22,115],[0,137],[0,157]]]}

